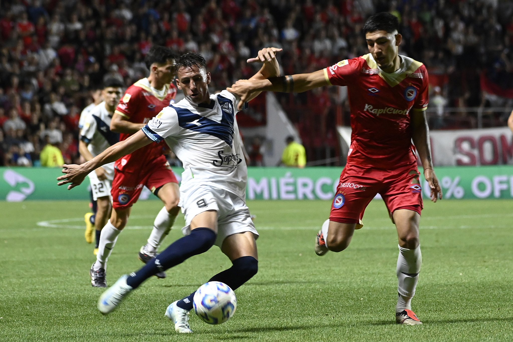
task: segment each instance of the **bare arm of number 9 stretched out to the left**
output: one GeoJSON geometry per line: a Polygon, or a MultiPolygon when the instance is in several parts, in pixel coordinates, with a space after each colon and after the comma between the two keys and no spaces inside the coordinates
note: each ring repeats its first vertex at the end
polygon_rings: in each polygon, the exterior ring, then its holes
{"type": "Polygon", "coordinates": [[[94,169],[102,165],[115,162],[117,159],[150,144],[150,140],[142,130],[130,136],[126,140],[112,145],[102,153],[98,154],[89,162],[81,165],[63,165],[64,176],[60,176],[57,185],[69,184],[68,190],[80,185],[84,178],[94,169]]]}

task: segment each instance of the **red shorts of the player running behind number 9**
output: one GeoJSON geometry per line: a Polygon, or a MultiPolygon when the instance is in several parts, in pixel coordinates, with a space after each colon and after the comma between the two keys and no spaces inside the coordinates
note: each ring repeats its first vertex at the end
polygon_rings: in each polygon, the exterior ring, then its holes
{"type": "Polygon", "coordinates": [[[112,207],[129,208],[137,202],[144,186],[154,192],[167,183],[178,183],[178,180],[163,155],[136,170],[130,170],[129,165],[125,165],[123,171],[115,169],[111,190],[112,207]]]}

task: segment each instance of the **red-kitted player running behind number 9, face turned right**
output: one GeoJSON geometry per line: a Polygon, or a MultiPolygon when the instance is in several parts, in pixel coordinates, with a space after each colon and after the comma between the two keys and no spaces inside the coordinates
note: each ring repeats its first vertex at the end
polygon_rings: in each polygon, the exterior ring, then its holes
{"type": "MultiPolygon", "coordinates": [[[[174,103],[176,88],[171,84],[174,75],[175,56],[169,48],[153,46],[145,57],[150,75],[130,86],[112,116],[110,129],[121,133],[125,140],[140,131],[151,118],[164,107],[174,103]]],[[[102,230],[96,262],[91,267],[93,286],[106,287],[105,270],[107,258],[125,228],[132,205],[137,202],[143,187],[148,187],[164,202],[164,207],[155,217],[153,230],[145,246],[139,251],[143,263],[152,259],[162,240],[171,229],[179,213],[180,192],[178,181],[164,155],[163,144],[152,143],[124,156],[114,164],[112,182],[112,215],[102,230]]],[[[156,274],[165,278],[166,273],[156,274]]]]}

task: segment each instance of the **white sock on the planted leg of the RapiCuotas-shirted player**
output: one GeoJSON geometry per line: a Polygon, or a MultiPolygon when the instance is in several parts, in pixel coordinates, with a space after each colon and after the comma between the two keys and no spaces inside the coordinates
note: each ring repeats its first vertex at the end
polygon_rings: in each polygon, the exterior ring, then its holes
{"type": "Polygon", "coordinates": [[[419,272],[422,265],[422,253],[420,246],[416,249],[407,249],[399,246],[399,258],[397,259],[398,300],[396,312],[405,309],[411,310],[411,298],[415,295],[419,272]]]}

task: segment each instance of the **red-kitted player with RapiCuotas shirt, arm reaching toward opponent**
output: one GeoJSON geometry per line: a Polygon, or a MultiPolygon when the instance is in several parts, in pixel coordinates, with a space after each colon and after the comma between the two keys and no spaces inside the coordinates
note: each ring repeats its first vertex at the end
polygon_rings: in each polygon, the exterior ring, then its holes
{"type": "Polygon", "coordinates": [[[419,221],[423,205],[415,149],[431,189],[431,200],[442,198],[442,191],[431,163],[424,115],[428,105],[427,71],[422,63],[399,55],[402,36],[398,28],[394,15],[375,14],[363,28],[369,54],[309,74],[240,80],[228,91],[241,96],[244,103],[254,91],[303,92],[329,85],[347,86],[351,147],[329,220],[316,238],[315,252],[324,255],[329,250],[346,249],[354,229],[362,227],[365,208],[377,193],[381,194],[399,236],[396,321],[417,325],[421,321],[411,311],[411,298],[422,263],[419,221]]]}

